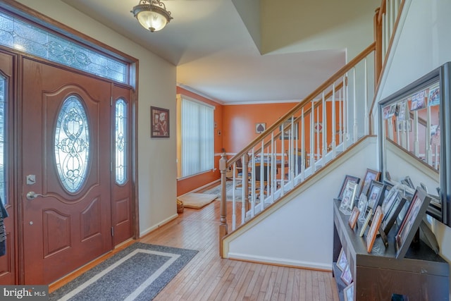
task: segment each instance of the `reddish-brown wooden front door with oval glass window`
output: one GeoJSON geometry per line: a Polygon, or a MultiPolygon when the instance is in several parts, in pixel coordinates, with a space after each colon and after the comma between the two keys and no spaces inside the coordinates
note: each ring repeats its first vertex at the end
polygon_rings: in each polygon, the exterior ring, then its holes
{"type": "Polygon", "coordinates": [[[111,84],[23,59],[25,284],[49,284],[113,247],[111,84]]]}

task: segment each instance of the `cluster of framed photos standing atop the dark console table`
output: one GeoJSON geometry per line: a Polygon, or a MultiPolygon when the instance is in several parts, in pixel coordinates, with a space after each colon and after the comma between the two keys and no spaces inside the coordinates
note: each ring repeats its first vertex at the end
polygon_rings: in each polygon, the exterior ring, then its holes
{"type": "Polygon", "coordinates": [[[374,242],[380,238],[385,247],[394,243],[396,258],[403,258],[417,237],[433,197],[422,186],[412,189],[413,183],[409,177],[402,183],[382,183],[378,180],[379,176],[378,171],[367,168],[363,183],[359,186],[359,177],[346,175],[338,194],[341,202],[339,209],[342,214],[350,216],[349,226],[356,235],[366,236],[367,252],[371,253],[374,242]],[[362,199],[367,199],[366,203],[358,204],[358,190],[362,192],[362,199]],[[388,241],[390,231],[394,231],[394,242],[388,241]]]}

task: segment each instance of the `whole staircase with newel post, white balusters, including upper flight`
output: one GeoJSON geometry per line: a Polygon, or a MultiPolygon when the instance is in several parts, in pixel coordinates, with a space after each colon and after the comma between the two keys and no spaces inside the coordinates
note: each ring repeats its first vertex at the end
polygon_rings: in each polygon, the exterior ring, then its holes
{"type": "Polygon", "coordinates": [[[230,251],[229,246],[223,250],[224,238],[247,231],[256,216],[265,211],[267,216],[268,209],[302,194],[302,185],[314,185],[321,172],[371,137],[373,97],[403,4],[383,0],[374,16],[375,42],[235,156],[222,155],[221,257],[230,251]],[[227,171],[233,174],[231,206],[226,204],[227,171]]]}

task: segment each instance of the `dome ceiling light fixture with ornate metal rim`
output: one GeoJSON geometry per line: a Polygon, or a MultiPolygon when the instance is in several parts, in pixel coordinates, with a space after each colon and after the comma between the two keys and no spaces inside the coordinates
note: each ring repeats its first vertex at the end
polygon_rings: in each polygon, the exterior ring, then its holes
{"type": "Polygon", "coordinates": [[[171,11],[160,0],[140,0],[140,4],[130,11],[138,22],[151,32],[162,30],[171,19],[171,11]]]}

